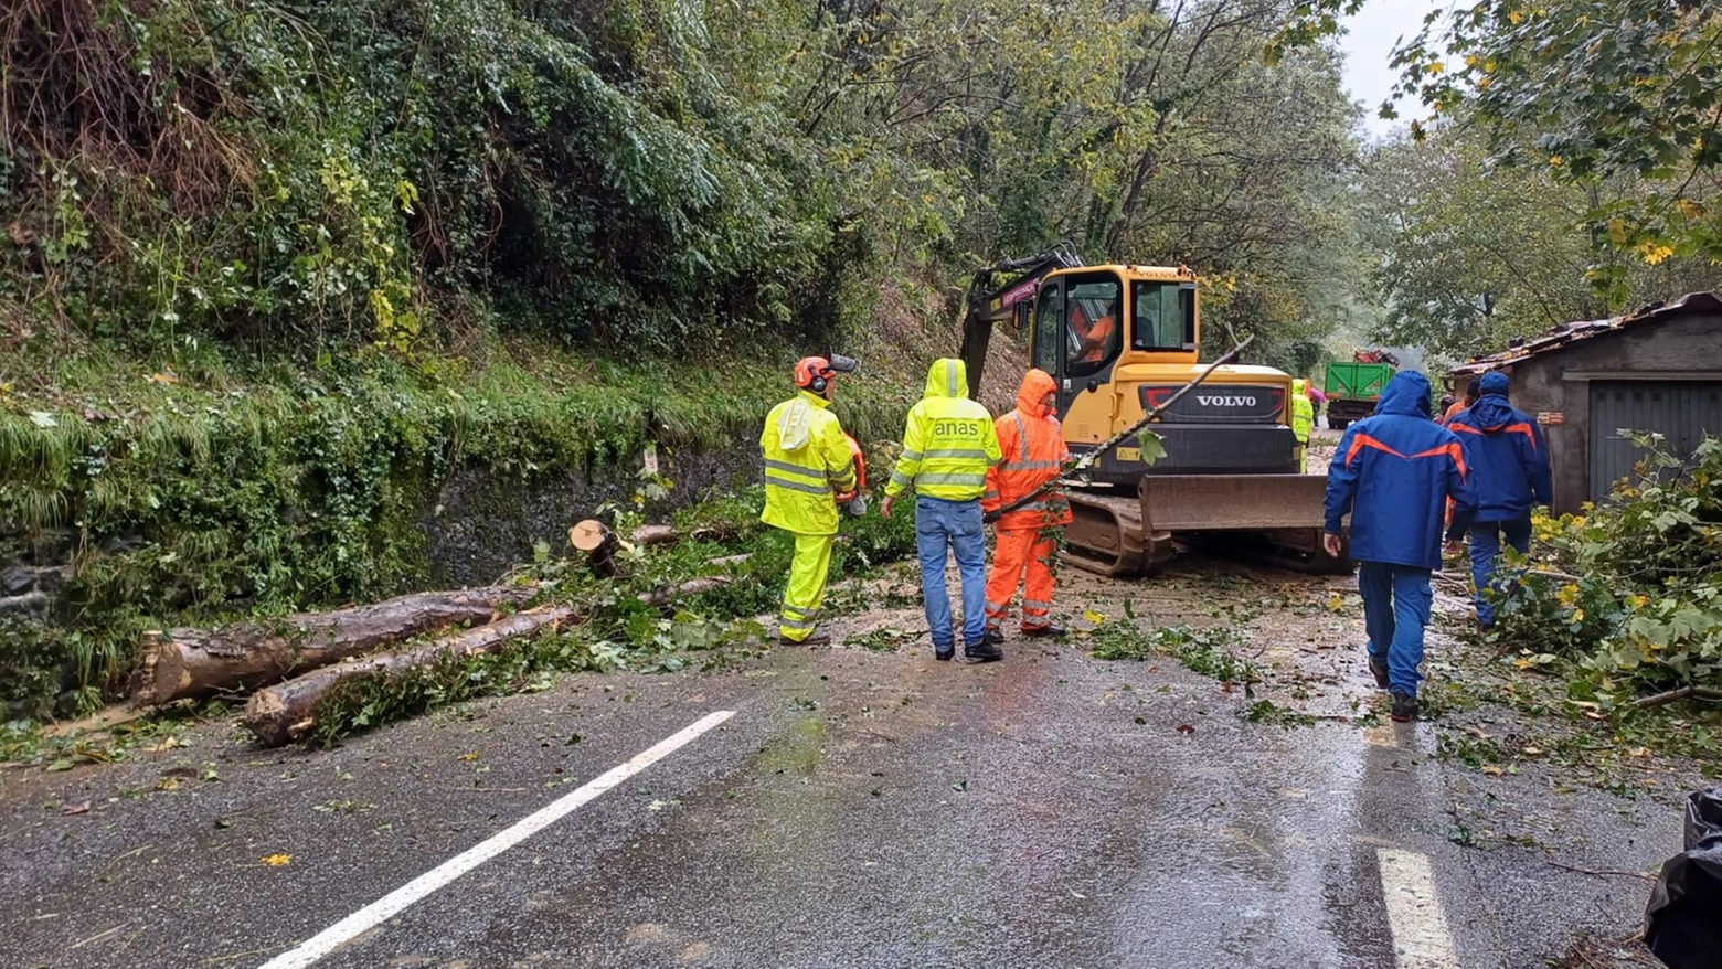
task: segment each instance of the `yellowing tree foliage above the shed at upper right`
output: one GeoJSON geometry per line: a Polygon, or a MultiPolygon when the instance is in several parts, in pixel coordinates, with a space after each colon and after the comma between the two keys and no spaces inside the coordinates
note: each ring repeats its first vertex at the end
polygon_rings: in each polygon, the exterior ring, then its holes
{"type": "MultiPolygon", "coordinates": [[[[1269,45],[1269,59],[1333,34],[1340,15],[1369,0],[1300,0],[1295,15],[1269,45]]],[[[1512,315],[1558,324],[1572,293],[1570,258],[1589,250],[1584,281],[1610,312],[1679,293],[1669,279],[1646,279],[1643,267],[1694,260],[1698,277],[1715,282],[1722,258],[1722,12],[1693,0],[1488,0],[1428,14],[1422,29],[1395,52],[1402,71],[1397,93],[1417,98],[1428,117],[1414,120],[1415,141],[1443,143],[1424,167],[1450,167],[1464,193],[1491,196],[1505,212],[1465,207],[1464,219],[1493,222],[1481,232],[1455,227],[1405,239],[1462,250],[1459,258],[1517,251],[1527,238],[1526,215],[1538,215],[1543,239],[1508,274],[1550,270],[1546,293],[1522,281],[1490,289],[1472,272],[1469,301],[1436,320],[1436,339],[1455,329],[1495,343],[1502,330],[1524,330],[1512,315]],[[1517,232],[1510,231],[1517,224],[1517,232]],[[1472,248],[1476,236],[1488,246],[1472,248]],[[1503,289],[1515,289],[1508,294],[1503,289]],[[1521,303],[1495,318],[1496,303],[1521,303]],[[1443,332],[1445,330],[1445,332],[1443,332]]],[[[1395,117],[1391,105],[1383,117],[1395,117]]],[[[1424,196],[1424,208],[1448,208],[1424,196]]],[[[1500,255],[1496,262],[1510,262],[1500,255]]],[[[1464,267],[1469,268],[1469,267],[1464,267]]],[[[1691,268],[1676,275],[1694,275],[1691,268]]],[[[1536,277],[1526,275],[1534,281],[1536,277]]],[[[1400,322],[1441,313],[1438,299],[1417,287],[1395,291],[1400,322]]],[[[1400,327],[1403,329],[1403,327],[1400,327]]],[[[1514,336],[1507,332],[1507,336],[1514,336]]]]}

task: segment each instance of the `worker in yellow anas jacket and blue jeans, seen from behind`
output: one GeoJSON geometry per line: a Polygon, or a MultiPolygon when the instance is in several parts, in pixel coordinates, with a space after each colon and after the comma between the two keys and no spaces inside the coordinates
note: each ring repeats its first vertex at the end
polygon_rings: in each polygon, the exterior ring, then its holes
{"type": "Polygon", "coordinates": [[[926,372],[926,396],[909,408],[902,454],[885,485],[878,513],[902,489],[914,487],[914,547],[921,558],[921,606],[933,633],[933,659],[956,656],[945,563],[956,554],[963,582],[963,654],[976,663],[1004,659],[987,642],[987,530],[980,496],[987,468],[999,463],[992,415],[968,399],[968,367],[957,358],[935,360],[926,372]]]}

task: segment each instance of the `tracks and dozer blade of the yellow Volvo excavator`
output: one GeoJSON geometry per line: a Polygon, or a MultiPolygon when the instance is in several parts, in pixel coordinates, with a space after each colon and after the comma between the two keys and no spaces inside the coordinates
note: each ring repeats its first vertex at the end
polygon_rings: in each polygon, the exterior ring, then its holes
{"type": "Polygon", "coordinates": [[[1173,535],[1279,568],[1345,575],[1355,563],[1321,549],[1322,475],[1145,475],[1135,497],[1069,487],[1064,559],[1100,575],[1154,575],[1173,535]]]}

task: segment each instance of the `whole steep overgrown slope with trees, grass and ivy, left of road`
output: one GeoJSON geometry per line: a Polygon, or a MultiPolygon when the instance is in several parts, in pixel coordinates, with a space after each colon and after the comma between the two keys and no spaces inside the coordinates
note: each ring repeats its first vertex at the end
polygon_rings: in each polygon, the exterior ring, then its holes
{"type": "Polygon", "coordinates": [[[887,441],[973,267],[1059,239],[1190,263],[1214,339],[1307,367],[1367,267],[1333,59],[1261,59],[1285,7],[9,3],[0,695],[420,585],[455,472],[747,442],[802,353],[863,358],[887,441]]]}

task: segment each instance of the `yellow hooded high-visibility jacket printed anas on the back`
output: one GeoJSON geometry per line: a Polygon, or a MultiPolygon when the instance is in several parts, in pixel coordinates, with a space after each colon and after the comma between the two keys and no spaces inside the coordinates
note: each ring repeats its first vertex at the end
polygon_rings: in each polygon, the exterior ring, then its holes
{"type": "Polygon", "coordinates": [[[935,360],[926,372],[926,396],[909,408],[902,454],[885,494],[901,494],[913,484],[916,494],[928,497],[978,499],[987,491],[987,468],[999,456],[992,415],[968,399],[968,367],[956,358],[935,360]]]}

